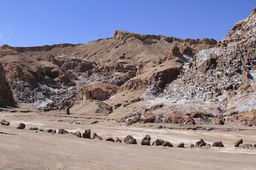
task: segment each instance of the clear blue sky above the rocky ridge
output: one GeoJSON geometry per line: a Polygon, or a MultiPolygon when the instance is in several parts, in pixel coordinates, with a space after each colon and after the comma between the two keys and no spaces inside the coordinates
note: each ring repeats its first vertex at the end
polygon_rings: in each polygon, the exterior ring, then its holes
{"type": "Polygon", "coordinates": [[[222,40],[256,0],[1,0],[0,46],[87,43],[115,30],[222,40]]]}

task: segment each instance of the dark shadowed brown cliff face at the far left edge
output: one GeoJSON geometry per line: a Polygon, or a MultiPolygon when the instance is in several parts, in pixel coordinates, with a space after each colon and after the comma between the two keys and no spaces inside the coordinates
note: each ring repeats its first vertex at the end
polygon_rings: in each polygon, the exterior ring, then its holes
{"type": "Polygon", "coordinates": [[[0,105],[15,106],[12,92],[5,79],[4,68],[0,63],[0,105]]]}

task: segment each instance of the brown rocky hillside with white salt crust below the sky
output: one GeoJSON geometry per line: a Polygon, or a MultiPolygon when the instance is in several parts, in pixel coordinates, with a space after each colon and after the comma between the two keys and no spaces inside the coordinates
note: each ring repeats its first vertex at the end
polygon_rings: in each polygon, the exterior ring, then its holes
{"type": "Polygon", "coordinates": [[[19,103],[77,111],[92,107],[86,102],[92,99],[127,124],[250,126],[256,123],[255,13],[221,42],[115,31],[87,44],[3,45],[0,63],[19,103]]]}

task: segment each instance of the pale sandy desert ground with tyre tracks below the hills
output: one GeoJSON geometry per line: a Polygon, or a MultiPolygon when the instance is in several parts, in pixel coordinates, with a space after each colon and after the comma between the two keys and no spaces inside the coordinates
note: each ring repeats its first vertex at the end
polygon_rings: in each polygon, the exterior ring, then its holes
{"type": "MultiPolygon", "coordinates": [[[[256,128],[242,126],[204,126],[213,130],[191,130],[193,126],[179,124],[135,124],[126,126],[103,115],[65,115],[65,110],[45,112],[29,105],[20,108],[1,108],[0,119],[10,122],[0,125],[0,170],[255,170],[256,148],[234,147],[243,139],[244,144],[256,144],[256,128]],[[25,111],[25,112],[24,112],[25,111]],[[27,112],[27,113],[26,113],[27,112]],[[96,124],[92,122],[98,121],[96,124]],[[25,129],[17,129],[19,123],[25,129]],[[91,129],[103,140],[61,135],[38,128],[63,128],[68,132],[91,129]],[[188,130],[189,129],[189,130],[188,130]],[[184,142],[184,148],[141,146],[141,139],[151,136],[174,146],[184,142]],[[123,139],[132,135],[137,145],[105,141],[107,137],[123,139]],[[222,141],[224,148],[190,148],[190,144],[203,139],[212,144],[222,141]]],[[[194,126],[196,127],[196,126],[194,126]]]]}

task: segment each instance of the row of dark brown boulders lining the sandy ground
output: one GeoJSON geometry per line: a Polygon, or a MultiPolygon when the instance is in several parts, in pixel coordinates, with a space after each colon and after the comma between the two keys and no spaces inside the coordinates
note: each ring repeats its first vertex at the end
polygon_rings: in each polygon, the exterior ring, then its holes
{"type": "MultiPolygon", "coordinates": [[[[10,122],[9,121],[5,121],[4,119],[0,121],[0,124],[5,125],[5,126],[9,126],[10,122]]],[[[26,127],[25,124],[20,123],[18,125],[18,129],[24,129],[26,127]]],[[[37,128],[37,127],[31,127],[29,130],[40,130],[43,132],[50,132],[50,133],[56,133],[55,129],[51,129],[51,128],[37,128]]],[[[96,132],[92,133],[92,138],[91,138],[91,130],[85,130],[85,132],[83,132],[83,134],[81,135],[80,131],[77,132],[68,132],[67,130],[64,129],[59,129],[58,130],[58,134],[68,134],[70,133],[71,135],[75,135],[76,137],[83,137],[83,138],[87,138],[87,139],[99,139],[99,140],[103,140],[103,138],[99,135],[97,135],[96,132]]],[[[106,141],[112,141],[112,142],[122,142],[121,139],[119,139],[119,137],[116,137],[116,139],[113,139],[112,137],[108,137],[106,139],[106,141]]],[[[128,135],[127,137],[125,137],[123,139],[125,144],[137,144],[137,140],[135,138],[133,138],[131,135],[128,135]]],[[[146,146],[150,146],[150,141],[151,141],[151,137],[150,135],[145,135],[145,137],[141,140],[141,145],[146,145],[146,146]]],[[[171,142],[168,141],[164,141],[162,139],[156,139],[153,144],[153,146],[168,146],[168,147],[173,147],[173,144],[171,144],[171,142]]],[[[195,148],[195,147],[202,147],[202,146],[209,146],[209,147],[224,147],[224,145],[222,144],[222,141],[215,141],[213,142],[212,145],[207,144],[206,142],[204,142],[203,139],[200,139],[199,141],[195,142],[194,144],[191,144],[189,146],[189,148],[195,148]]],[[[252,144],[243,144],[243,139],[239,139],[238,141],[236,141],[234,143],[235,147],[239,147],[239,148],[245,148],[245,149],[249,149],[249,148],[256,148],[256,144],[254,144],[254,146],[252,146],[252,144]]],[[[177,144],[176,147],[178,148],[184,148],[184,142],[177,144]]]]}

